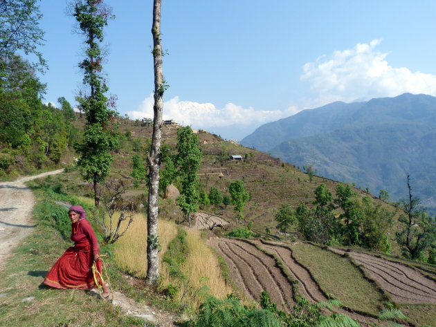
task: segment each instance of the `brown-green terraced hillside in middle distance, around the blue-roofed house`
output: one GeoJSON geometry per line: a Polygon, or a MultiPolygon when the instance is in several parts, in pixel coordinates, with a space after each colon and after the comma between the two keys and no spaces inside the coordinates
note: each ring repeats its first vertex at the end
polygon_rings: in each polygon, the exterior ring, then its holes
{"type": "MultiPolygon", "coordinates": [[[[112,174],[117,178],[123,178],[131,174],[131,156],[136,153],[132,143],[142,140],[145,144],[147,138],[152,136],[152,128],[141,127],[138,122],[126,119],[118,120],[118,126],[120,133],[131,135],[131,140],[123,141],[113,162],[112,174]]],[[[174,126],[163,127],[163,142],[173,148],[176,145],[176,129],[174,126]]],[[[278,232],[275,230],[275,214],[280,205],[289,203],[292,207],[297,207],[300,203],[311,204],[314,201],[314,190],[320,183],[324,183],[333,194],[338,185],[334,180],[318,176],[309,181],[307,174],[287,162],[262,151],[228,142],[206,131],[200,130],[197,135],[203,151],[199,170],[201,189],[208,193],[210,187],[217,187],[223,194],[228,194],[230,183],[237,179],[242,180],[244,187],[251,194],[251,200],[244,208],[245,218],[242,224],[253,221],[253,229],[260,234],[265,234],[266,227],[271,229],[272,234],[278,232]],[[240,155],[244,160],[228,160],[230,155],[240,155]],[[220,174],[223,176],[220,177],[220,174]]],[[[132,183],[129,178],[125,178],[125,181],[127,184],[132,183]]],[[[145,187],[142,186],[142,189],[131,189],[129,194],[143,194],[145,191],[145,187]]],[[[354,191],[362,195],[367,194],[362,189],[354,188],[354,191]]],[[[91,188],[88,187],[87,192],[91,192],[91,188]]],[[[387,205],[376,197],[373,197],[373,201],[376,204],[387,205]]],[[[394,207],[391,208],[394,210],[394,207]]],[[[214,212],[212,207],[204,209],[210,213],[214,212]]],[[[221,206],[217,213],[230,221],[227,229],[237,223],[233,205],[221,206]]],[[[395,245],[394,250],[397,250],[395,245]]]]}

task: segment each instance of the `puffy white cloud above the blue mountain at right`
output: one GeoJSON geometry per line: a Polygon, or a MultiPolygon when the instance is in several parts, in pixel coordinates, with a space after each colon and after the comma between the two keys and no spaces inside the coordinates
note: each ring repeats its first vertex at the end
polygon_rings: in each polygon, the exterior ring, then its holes
{"type": "Polygon", "coordinates": [[[318,104],[394,97],[405,92],[436,95],[435,75],[389,66],[385,60],[388,53],[375,49],[380,43],[374,39],[370,44],[318,57],[303,66],[301,80],[312,83],[312,89],[319,93],[318,104]]]}

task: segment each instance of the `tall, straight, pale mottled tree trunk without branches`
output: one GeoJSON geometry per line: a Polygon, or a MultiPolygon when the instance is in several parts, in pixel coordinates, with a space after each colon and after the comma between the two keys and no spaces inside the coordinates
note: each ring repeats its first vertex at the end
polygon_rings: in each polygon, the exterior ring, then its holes
{"type": "Polygon", "coordinates": [[[162,73],[161,0],[153,4],[153,59],[154,59],[154,120],[152,147],[149,152],[149,185],[147,208],[147,283],[158,280],[158,190],[161,166],[162,109],[165,81],[162,73]]]}

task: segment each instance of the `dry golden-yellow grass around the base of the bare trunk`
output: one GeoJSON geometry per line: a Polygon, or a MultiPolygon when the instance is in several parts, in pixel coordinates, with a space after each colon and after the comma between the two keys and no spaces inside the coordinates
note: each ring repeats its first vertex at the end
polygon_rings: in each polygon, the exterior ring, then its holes
{"type": "MultiPolygon", "coordinates": [[[[122,223],[122,230],[126,223],[125,221],[122,223]]],[[[142,214],[137,214],[125,236],[122,236],[115,243],[116,263],[123,270],[131,272],[137,277],[145,277],[147,274],[146,231],[147,221],[145,217],[142,214]]],[[[203,286],[207,286],[210,295],[217,298],[226,297],[227,294],[234,292],[230,286],[226,285],[224,277],[221,275],[218,258],[201,239],[201,233],[197,230],[187,230],[187,232],[189,255],[182,270],[188,285],[181,285],[180,280],[170,277],[165,264],[162,264],[162,257],[167,250],[167,245],[177,234],[176,225],[170,221],[159,221],[158,235],[162,247],[161,252],[159,252],[159,274],[163,285],[170,283],[179,285],[181,290],[175,300],[180,301],[181,297],[184,296],[184,299],[188,300],[194,307],[201,303],[200,290],[203,286]]]]}

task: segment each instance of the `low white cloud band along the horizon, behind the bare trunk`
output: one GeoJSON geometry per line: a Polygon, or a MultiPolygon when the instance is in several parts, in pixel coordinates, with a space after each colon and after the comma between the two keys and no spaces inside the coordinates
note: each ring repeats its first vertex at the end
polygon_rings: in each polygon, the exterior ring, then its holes
{"type": "MultiPolygon", "coordinates": [[[[129,111],[132,119],[153,117],[153,95],[146,97],[137,111],[129,111]]],[[[163,119],[173,119],[183,125],[190,125],[196,129],[208,129],[208,127],[225,127],[233,124],[257,125],[289,117],[297,113],[295,106],[286,110],[256,111],[253,107],[242,108],[233,103],[228,103],[222,109],[217,109],[211,103],[198,103],[180,101],[179,97],[173,97],[163,105],[163,119]]]]}

